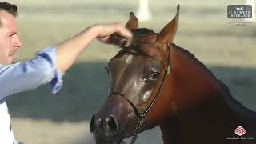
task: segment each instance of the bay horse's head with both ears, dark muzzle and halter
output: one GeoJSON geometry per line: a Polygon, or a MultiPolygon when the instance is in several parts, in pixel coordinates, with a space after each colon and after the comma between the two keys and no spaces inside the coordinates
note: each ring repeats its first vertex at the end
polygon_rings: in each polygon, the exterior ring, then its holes
{"type": "Polygon", "coordinates": [[[132,31],[134,40],[110,59],[106,67],[110,75],[109,96],[90,122],[96,143],[119,143],[133,135],[136,126],[137,131],[143,131],[166,117],[166,102],[170,100],[158,96],[166,93],[162,90],[164,83],[170,85],[165,79],[170,70],[170,43],[178,27],[178,15],[179,12],[158,34],[138,28],[138,19],[130,13],[126,28],[132,31]],[[155,114],[156,110],[160,112],[155,114]]]}

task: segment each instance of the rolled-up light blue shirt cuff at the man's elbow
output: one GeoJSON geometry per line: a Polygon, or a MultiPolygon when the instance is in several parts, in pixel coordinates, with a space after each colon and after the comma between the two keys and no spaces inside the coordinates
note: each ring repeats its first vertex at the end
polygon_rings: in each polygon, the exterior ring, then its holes
{"type": "Polygon", "coordinates": [[[58,71],[55,66],[55,61],[56,61],[56,48],[54,46],[52,47],[47,47],[44,50],[38,51],[36,53],[38,56],[47,59],[51,67],[53,68],[54,71],[54,78],[50,79],[50,87],[52,90],[53,94],[56,94],[59,90],[62,89],[63,81],[62,77],[64,76],[64,73],[58,71]]]}

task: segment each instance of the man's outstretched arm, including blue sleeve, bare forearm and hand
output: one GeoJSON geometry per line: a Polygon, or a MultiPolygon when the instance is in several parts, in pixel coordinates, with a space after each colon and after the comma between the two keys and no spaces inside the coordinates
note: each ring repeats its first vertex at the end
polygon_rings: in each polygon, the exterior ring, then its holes
{"type": "Polygon", "coordinates": [[[34,90],[50,82],[53,93],[62,87],[62,75],[73,65],[94,38],[110,42],[110,34],[131,38],[129,30],[118,23],[94,25],[57,46],[39,51],[35,58],[9,66],[0,66],[0,99],[11,94],[34,90]]]}

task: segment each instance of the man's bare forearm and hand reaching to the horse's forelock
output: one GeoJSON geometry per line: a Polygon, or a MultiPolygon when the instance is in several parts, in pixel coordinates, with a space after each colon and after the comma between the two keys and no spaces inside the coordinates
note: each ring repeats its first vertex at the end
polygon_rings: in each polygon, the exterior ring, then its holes
{"type": "MultiPolygon", "coordinates": [[[[78,54],[82,52],[92,42],[94,38],[108,43],[110,34],[118,33],[126,38],[131,38],[132,34],[119,23],[94,25],[83,30],[73,38],[67,39],[56,46],[56,68],[59,71],[65,72],[74,63],[78,54]]],[[[127,43],[127,45],[129,45],[127,43]]]]}

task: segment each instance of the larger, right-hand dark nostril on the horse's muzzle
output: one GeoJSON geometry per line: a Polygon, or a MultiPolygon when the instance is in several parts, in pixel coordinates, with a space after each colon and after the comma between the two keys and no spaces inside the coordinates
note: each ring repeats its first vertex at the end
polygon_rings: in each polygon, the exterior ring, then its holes
{"type": "Polygon", "coordinates": [[[104,129],[107,136],[113,136],[118,133],[118,122],[115,120],[113,115],[106,118],[104,129]]]}

